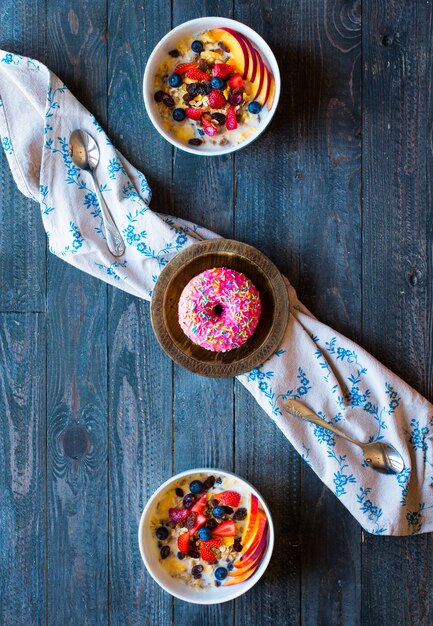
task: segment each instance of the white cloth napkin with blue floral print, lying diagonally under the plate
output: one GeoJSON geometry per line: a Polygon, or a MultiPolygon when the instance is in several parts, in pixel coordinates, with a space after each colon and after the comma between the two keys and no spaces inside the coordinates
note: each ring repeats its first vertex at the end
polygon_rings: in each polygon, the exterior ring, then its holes
{"type": "MultiPolygon", "coordinates": [[[[95,118],[34,59],[0,51],[0,135],[19,189],[40,204],[50,251],[149,300],[161,269],[181,249],[217,235],[149,209],[144,175],[114,148],[95,118]],[[100,148],[100,189],[126,252],[108,251],[86,173],[72,164],[68,138],[88,131],[100,148]]],[[[349,339],[317,321],[288,284],[290,318],[279,350],[239,376],[302,458],[365,530],[405,535],[433,530],[433,406],[349,339]],[[361,441],[384,440],[404,457],[398,476],[366,466],[343,439],[284,412],[300,399],[361,441]]]]}

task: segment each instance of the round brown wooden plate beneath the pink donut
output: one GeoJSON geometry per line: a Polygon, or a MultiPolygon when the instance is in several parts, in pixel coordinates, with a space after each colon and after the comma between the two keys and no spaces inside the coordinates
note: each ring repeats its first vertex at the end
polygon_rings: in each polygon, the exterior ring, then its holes
{"type": "Polygon", "coordinates": [[[280,345],[289,316],[287,287],[275,265],[239,241],[210,239],[179,252],[161,272],[152,294],[151,319],[162,348],[179,365],[211,378],[248,372],[280,345]],[[178,302],[187,283],[204,270],[229,267],[250,278],[260,293],[262,314],[254,334],[239,348],[211,352],[194,344],[178,320],[178,302]]]}

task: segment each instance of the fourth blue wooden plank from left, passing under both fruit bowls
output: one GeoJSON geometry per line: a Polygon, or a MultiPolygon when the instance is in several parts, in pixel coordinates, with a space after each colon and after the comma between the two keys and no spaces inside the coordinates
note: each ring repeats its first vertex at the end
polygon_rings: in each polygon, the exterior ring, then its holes
{"type": "MultiPolygon", "coordinates": [[[[173,26],[204,15],[232,15],[232,2],[174,0],[173,26]]],[[[233,235],[233,157],[203,158],[174,151],[173,202],[176,215],[233,235]],[[197,176],[198,184],[191,184],[197,176]],[[187,182],[188,181],[188,182],[187,182]]],[[[233,468],[233,380],[200,378],[174,368],[174,470],[207,466],[233,468]],[[202,440],[197,445],[197,434],[202,440]]],[[[220,626],[233,622],[233,603],[210,607],[174,602],[174,624],[220,626]]]]}

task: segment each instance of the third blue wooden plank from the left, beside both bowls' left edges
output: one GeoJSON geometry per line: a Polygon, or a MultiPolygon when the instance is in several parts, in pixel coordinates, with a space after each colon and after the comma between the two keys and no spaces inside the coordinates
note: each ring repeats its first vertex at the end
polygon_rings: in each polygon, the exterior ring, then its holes
{"type": "MultiPolygon", "coordinates": [[[[141,86],[145,62],[170,23],[170,3],[153,2],[146,11],[134,0],[110,3],[109,132],[149,175],[160,210],[169,203],[172,151],[144,113],[141,86]]],[[[111,288],[108,351],[110,623],[171,626],[172,598],[146,572],[137,534],[147,499],[172,474],[172,364],[155,341],[148,303],[111,288]]]]}

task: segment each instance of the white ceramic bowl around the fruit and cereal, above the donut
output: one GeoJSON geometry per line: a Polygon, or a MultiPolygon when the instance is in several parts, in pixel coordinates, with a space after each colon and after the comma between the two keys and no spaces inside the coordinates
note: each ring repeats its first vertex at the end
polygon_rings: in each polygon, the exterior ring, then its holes
{"type": "Polygon", "coordinates": [[[190,20],[189,22],[184,22],[183,24],[176,26],[176,28],[173,28],[173,30],[167,33],[167,35],[165,35],[165,37],[163,37],[154,48],[152,54],[149,57],[149,60],[147,61],[143,79],[144,104],[146,106],[146,110],[151,119],[151,122],[155,126],[156,130],[176,148],[185,150],[185,152],[200,154],[202,156],[220,156],[222,154],[228,154],[229,152],[234,152],[235,150],[240,150],[241,148],[244,148],[255,139],[257,139],[257,137],[268,126],[275,113],[275,110],[278,106],[278,100],[280,98],[280,90],[280,70],[278,69],[278,63],[274,56],[274,53],[272,52],[266,41],[249,26],[246,26],[241,22],[237,22],[236,20],[229,20],[225,17],[200,17],[195,20],[190,20]],[[206,30],[218,27],[232,28],[233,30],[242,33],[243,35],[248,37],[248,39],[257,48],[257,50],[262,53],[275,79],[274,102],[272,104],[271,110],[268,111],[266,113],[266,117],[263,118],[259,129],[256,132],[252,133],[242,143],[235,146],[221,146],[218,149],[206,148],[205,146],[197,148],[178,141],[176,137],[174,137],[174,135],[172,135],[170,132],[167,131],[167,129],[163,127],[157,104],[153,98],[153,82],[160,64],[167,56],[168,51],[176,47],[179,39],[182,39],[187,35],[194,35],[196,33],[198,34],[200,32],[204,32],[206,30]]]}

